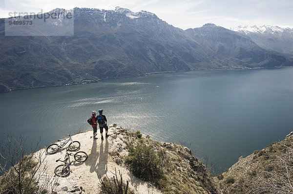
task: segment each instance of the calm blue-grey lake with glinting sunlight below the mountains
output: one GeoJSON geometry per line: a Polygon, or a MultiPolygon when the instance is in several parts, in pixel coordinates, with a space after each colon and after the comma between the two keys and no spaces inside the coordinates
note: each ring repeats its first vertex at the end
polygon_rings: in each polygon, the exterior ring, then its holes
{"type": "Polygon", "coordinates": [[[0,137],[41,137],[43,147],[90,130],[86,120],[98,109],[108,123],[188,145],[221,173],[293,131],[293,68],[154,74],[3,93],[0,137]]]}

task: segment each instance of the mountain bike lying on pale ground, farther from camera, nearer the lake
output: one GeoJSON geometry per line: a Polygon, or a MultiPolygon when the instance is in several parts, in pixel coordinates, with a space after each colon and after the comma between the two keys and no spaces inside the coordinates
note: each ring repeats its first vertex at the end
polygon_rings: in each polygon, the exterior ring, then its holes
{"type": "Polygon", "coordinates": [[[60,148],[63,148],[65,146],[65,144],[67,144],[69,141],[69,145],[68,145],[68,150],[69,151],[76,151],[78,150],[78,148],[80,148],[81,143],[79,141],[72,141],[71,136],[68,134],[69,139],[68,140],[58,140],[59,144],[57,143],[53,143],[51,145],[49,145],[46,149],[47,154],[55,154],[56,152],[58,152],[58,150],[60,148]]]}

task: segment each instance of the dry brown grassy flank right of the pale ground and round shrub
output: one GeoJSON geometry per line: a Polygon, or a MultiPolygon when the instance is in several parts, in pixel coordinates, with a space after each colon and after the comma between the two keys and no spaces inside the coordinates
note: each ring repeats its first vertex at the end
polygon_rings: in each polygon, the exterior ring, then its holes
{"type": "MultiPolygon", "coordinates": [[[[124,132],[125,129],[121,129],[118,134],[124,132]]],[[[137,138],[135,133],[126,133],[126,136],[126,144],[143,143],[152,145],[154,150],[163,149],[167,152],[165,176],[155,184],[164,194],[218,194],[206,166],[193,157],[187,147],[175,143],[137,138]]],[[[121,159],[124,160],[123,157],[121,159]]]]}

